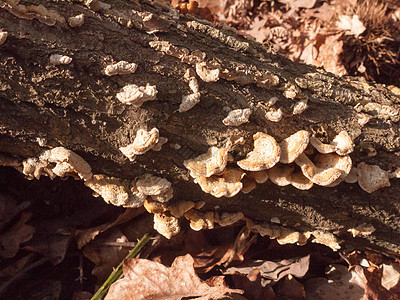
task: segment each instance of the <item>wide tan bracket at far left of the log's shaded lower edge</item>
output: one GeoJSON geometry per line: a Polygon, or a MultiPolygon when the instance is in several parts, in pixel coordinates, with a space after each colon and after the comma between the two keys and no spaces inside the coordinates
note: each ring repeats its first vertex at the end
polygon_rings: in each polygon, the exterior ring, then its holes
{"type": "Polygon", "coordinates": [[[51,179],[56,176],[74,176],[88,180],[92,177],[90,165],[78,154],[64,147],[46,150],[39,158],[26,159],[22,172],[28,179],[39,179],[41,175],[47,175],[51,179]]]}

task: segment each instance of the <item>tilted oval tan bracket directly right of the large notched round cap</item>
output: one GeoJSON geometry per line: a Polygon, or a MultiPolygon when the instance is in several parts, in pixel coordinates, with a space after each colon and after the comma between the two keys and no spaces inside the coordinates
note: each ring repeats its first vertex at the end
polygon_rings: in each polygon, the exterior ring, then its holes
{"type": "Polygon", "coordinates": [[[279,143],[279,147],[281,148],[281,157],[279,161],[284,164],[294,162],[294,160],[307,148],[309,137],[310,134],[308,131],[300,130],[284,139],[279,143]]]}

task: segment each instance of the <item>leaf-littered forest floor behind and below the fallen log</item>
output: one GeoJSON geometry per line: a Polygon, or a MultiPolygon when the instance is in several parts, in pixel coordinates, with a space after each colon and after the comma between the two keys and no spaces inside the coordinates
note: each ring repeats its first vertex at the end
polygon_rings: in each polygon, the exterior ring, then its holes
{"type": "MultiPolygon", "coordinates": [[[[291,60],[400,94],[395,0],[198,2],[215,24],[270,42],[291,60]]],[[[172,5],[210,18],[194,3],[172,5]]],[[[281,245],[245,218],[201,231],[182,224],[168,240],[144,208],[107,205],[72,178],[27,181],[12,168],[1,168],[0,191],[1,299],[91,299],[147,233],[106,299],[400,299],[399,259],[383,253],[281,245]]]]}

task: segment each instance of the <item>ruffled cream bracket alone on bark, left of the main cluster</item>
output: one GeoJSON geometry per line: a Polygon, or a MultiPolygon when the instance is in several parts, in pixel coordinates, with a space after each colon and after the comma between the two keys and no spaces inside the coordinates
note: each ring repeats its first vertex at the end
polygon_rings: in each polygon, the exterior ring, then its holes
{"type": "MultiPolygon", "coordinates": [[[[157,128],[153,128],[150,131],[145,129],[139,129],[136,133],[135,139],[132,144],[126,147],[121,147],[119,150],[129,160],[134,161],[136,155],[141,155],[152,149],[159,142],[159,131],[157,128]]],[[[158,148],[156,148],[157,150],[158,148]]]]}

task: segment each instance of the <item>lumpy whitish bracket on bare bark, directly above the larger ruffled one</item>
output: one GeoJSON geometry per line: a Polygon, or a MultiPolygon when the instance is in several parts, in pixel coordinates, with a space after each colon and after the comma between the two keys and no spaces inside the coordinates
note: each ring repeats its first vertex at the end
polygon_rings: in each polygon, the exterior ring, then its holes
{"type": "Polygon", "coordinates": [[[157,89],[155,85],[137,86],[136,84],[128,84],[124,86],[116,97],[122,103],[140,107],[144,102],[155,100],[157,89]]]}

